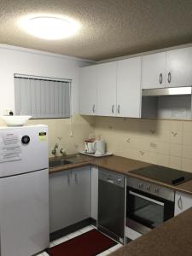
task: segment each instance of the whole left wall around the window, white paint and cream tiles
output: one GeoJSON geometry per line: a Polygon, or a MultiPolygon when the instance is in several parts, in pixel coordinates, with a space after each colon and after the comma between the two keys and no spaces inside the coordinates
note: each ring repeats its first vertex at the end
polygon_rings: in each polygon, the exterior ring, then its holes
{"type": "MultiPolygon", "coordinates": [[[[15,109],[14,73],[72,79],[72,119],[37,119],[27,124],[49,126],[49,155],[55,143],[66,148],[67,154],[76,153],[83,148],[84,138],[93,132],[92,118],[83,118],[77,114],[79,67],[85,65],[90,65],[90,61],[0,44],[0,115],[6,109],[15,109]],[[61,141],[57,137],[61,137],[61,141]]],[[[0,121],[2,125],[3,121],[0,121]]]]}

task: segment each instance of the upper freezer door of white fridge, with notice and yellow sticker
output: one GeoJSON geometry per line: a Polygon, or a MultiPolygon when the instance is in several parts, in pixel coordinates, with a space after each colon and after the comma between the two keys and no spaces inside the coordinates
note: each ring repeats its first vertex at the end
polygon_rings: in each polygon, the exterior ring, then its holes
{"type": "Polygon", "coordinates": [[[48,127],[0,129],[0,177],[48,168],[48,127]]]}

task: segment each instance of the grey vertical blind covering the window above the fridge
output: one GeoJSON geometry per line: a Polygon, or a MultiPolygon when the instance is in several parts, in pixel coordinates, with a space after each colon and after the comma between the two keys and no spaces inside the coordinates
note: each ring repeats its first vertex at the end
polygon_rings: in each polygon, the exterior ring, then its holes
{"type": "Polygon", "coordinates": [[[33,119],[69,118],[71,82],[15,74],[15,114],[33,119]]]}

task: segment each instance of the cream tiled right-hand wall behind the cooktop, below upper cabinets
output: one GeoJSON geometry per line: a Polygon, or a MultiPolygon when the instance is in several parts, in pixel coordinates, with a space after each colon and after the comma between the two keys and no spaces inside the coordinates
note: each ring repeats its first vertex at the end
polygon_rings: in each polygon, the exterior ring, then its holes
{"type": "Polygon", "coordinates": [[[192,172],[192,121],[96,117],[113,154],[192,172]]]}

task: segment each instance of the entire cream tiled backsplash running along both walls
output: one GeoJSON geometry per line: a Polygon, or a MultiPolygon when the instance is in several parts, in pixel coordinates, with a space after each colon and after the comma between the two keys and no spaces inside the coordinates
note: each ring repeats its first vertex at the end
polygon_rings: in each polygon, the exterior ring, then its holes
{"type": "Polygon", "coordinates": [[[67,154],[77,153],[84,148],[84,139],[95,133],[96,137],[105,139],[107,150],[113,154],[192,172],[192,121],[75,114],[71,121],[37,119],[27,124],[49,126],[49,156],[55,143],[66,148],[67,154]]]}

